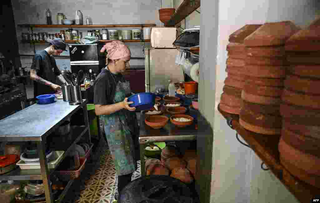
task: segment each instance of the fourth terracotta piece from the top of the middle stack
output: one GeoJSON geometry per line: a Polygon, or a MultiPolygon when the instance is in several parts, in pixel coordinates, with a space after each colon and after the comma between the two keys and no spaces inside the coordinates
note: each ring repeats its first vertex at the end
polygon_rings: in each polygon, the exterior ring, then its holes
{"type": "Polygon", "coordinates": [[[287,66],[245,65],[246,75],[259,78],[285,78],[287,66]]]}

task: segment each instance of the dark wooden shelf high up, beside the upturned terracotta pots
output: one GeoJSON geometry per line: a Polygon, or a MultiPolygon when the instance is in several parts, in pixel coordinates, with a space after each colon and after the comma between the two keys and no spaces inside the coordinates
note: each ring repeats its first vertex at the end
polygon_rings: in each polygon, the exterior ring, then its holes
{"type": "Polygon", "coordinates": [[[184,0],[171,19],[165,23],[166,27],[173,27],[200,7],[200,0],[184,0]]]}

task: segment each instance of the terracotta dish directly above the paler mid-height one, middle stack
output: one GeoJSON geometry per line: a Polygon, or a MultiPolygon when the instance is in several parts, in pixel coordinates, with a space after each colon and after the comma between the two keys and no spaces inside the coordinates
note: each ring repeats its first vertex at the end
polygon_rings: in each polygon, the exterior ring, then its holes
{"type": "Polygon", "coordinates": [[[283,91],[283,87],[260,86],[254,83],[246,82],[244,84],[243,90],[249,94],[280,97],[283,91]]]}

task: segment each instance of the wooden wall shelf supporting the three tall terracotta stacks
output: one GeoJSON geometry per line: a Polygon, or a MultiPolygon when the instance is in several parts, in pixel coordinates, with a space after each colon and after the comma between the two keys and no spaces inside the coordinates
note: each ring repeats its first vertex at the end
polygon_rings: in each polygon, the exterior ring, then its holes
{"type": "Polygon", "coordinates": [[[310,199],[320,194],[320,189],[293,177],[279,160],[278,143],[280,136],[262,135],[250,132],[239,124],[239,116],[218,110],[236,132],[247,142],[252,150],[268,166],[272,173],[285,185],[285,187],[302,203],[309,203],[310,199]]]}

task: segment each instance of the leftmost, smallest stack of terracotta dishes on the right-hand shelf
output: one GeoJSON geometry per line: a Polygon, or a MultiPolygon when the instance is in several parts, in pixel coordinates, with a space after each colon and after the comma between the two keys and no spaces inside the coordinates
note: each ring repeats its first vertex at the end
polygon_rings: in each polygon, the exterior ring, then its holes
{"type": "Polygon", "coordinates": [[[241,91],[244,86],[244,58],[245,47],[244,38],[253,33],[261,25],[245,25],[229,36],[227,46],[228,76],[224,81],[223,93],[221,94],[220,109],[231,114],[239,114],[241,108],[241,91]]]}

